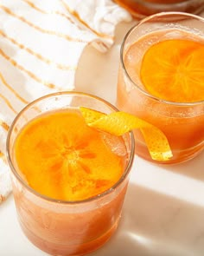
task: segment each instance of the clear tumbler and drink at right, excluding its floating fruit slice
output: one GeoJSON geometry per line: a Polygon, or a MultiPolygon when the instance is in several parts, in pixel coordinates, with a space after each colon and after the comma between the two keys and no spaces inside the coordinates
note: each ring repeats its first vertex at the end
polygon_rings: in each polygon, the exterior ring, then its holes
{"type": "MultiPolygon", "coordinates": [[[[160,161],[166,164],[187,161],[203,150],[204,92],[201,89],[203,101],[200,102],[169,102],[157,98],[144,88],[140,67],[143,55],[151,45],[182,38],[204,45],[204,19],[182,12],[163,12],[146,17],[127,33],[121,47],[117,107],[163,131],[174,155],[169,161],[160,161]]],[[[196,72],[194,74],[196,76],[196,72]]],[[[152,161],[143,135],[138,130],[134,134],[136,153],[152,161]]]]}

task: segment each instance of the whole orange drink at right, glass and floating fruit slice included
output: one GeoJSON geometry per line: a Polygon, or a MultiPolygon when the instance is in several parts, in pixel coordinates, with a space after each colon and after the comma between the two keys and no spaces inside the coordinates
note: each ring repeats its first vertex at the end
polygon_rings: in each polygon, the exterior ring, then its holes
{"type": "MultiPolygon", "coordinates": [[[[173,157],[194,158],[204,148],[204,19],[182,12],[149,16],[124,37],[117,107],[160,128],[173,157]]],[[[140,131],[136,153],[151,161],[140,131]]],[[[156,161],[155,161],[156,162],[156,161]]]]}

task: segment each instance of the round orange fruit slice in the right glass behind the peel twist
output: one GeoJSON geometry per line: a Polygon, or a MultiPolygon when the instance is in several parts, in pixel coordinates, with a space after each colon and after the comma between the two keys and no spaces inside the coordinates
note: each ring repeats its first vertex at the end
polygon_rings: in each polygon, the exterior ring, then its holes
{"type": "Polygon", "coordinates": [[[140,69],[151,95],[170,102],[204,100],[204,43],[172,39],[148,49],[140,69]]]}

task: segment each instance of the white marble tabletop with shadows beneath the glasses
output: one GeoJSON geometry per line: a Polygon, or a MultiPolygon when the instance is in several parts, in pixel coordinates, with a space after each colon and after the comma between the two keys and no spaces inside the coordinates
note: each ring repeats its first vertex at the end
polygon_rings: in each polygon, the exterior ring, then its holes
{"type": "MultiPolygon", "coordinates": [[[[115,102],[119,47],[131,25],[120,24],[117,41],[106,54],[87,47],[77,71],[77,90],[115,102]]],[[[23,235],[12,195],[0,206],[0,255],[47,255],[23,235]]],[[[170,167],[136,156],[118,231],[90,255],[204,255],[204,152],[170,167]]]]}

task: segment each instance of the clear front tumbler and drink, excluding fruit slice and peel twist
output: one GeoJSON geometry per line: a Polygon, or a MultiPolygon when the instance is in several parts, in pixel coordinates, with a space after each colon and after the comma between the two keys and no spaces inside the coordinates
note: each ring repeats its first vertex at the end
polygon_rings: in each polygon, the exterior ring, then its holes
{"type": "Polygon", "coordinates": [[[42,113],[84,106],[104,113],[117,111],[93,95],[64,92],[30,103],[10,127],[7,154],[11,169],[16,212],[22,231],[42,251],[53,255],[84,255],[102,246],[117,229],[134,157],[132,133],[124,135],[127,161],[124,174],[113,187],[87,200],[54,200],[37,193],[16,167],[13,148],[24,125],[42,113]]]}

